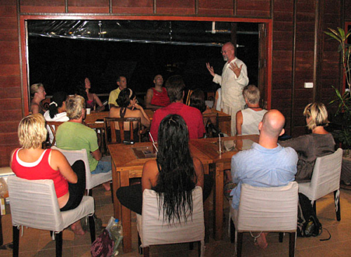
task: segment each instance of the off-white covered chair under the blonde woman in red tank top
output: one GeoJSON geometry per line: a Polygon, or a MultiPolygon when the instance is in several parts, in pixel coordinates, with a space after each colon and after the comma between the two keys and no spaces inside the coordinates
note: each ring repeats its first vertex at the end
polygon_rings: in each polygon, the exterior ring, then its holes
{"type": "Polygon", "coordinates": [[[84,196],[76,209],[60,211],[53,180],[8,177],[13,225],[13,256],[18,257],[20,226],[50,230],[56,240],[56,256],[62,256],[62,230],[89,216],[91,242],[95,240],[94,199],[84,196]]]}

